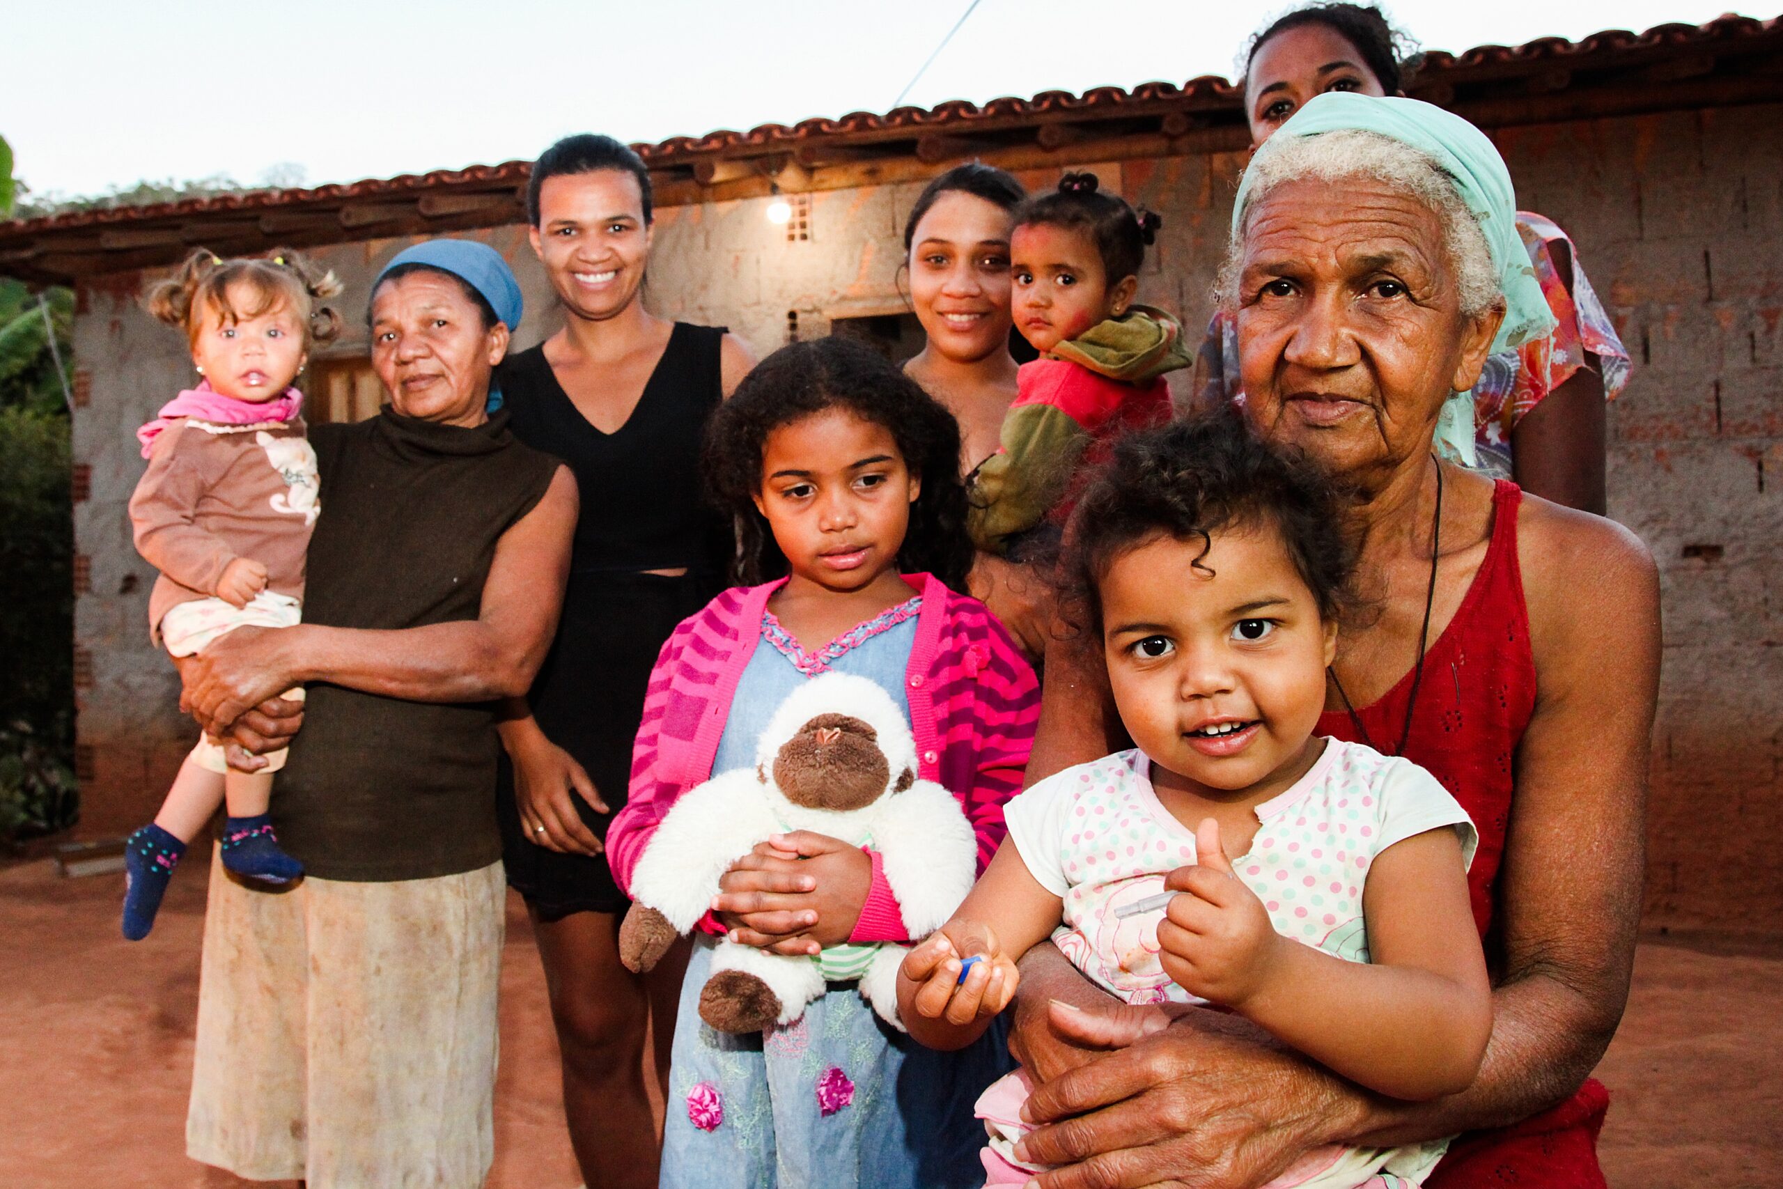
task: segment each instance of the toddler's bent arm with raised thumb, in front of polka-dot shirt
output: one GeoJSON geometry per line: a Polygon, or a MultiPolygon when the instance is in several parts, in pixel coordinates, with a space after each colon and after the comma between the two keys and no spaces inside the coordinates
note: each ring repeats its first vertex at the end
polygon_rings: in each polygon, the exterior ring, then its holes
{"type": "Polygon", "coordinates": [[[1492,988],[1451,827],[1375,856],[1362,891],[1371,963],[1275,932],[1211,818],[1196,852],[1198,866],[1170,873],[1166,886],[1186,895],[1157,929],[1179,986],[1389,1098],[1423,1102],[1473,1084],[1492,1034],[1492,988]]]}

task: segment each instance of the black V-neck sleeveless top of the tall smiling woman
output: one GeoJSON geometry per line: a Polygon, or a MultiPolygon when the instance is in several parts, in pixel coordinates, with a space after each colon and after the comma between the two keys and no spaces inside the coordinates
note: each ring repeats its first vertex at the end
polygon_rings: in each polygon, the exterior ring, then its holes
{"type": "Polygon", "coordinates": [[[563,392],[544,344],[510,355],[499,381],[514,435],[576,474],[581,517],[571,569],[688,569],[722,576],[729,522],[704,499],[699,447],[722,394],[722,326],[676,323],[626,424],[596,430],[563,392]]]}

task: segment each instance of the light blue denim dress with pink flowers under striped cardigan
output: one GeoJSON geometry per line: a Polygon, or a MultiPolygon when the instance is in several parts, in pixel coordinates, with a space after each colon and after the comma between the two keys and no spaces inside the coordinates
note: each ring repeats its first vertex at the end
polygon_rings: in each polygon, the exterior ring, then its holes
{"type": "MultiPolygon", "coordinates": [[[[877,681],[909,713],[904,670],[922,599],[815,656],[772,613],[736,686],[713,772],[754,765],[781,701],[818,672],[877,681]]],[[[792,1025],[731,1036],[699,1018],[713,943],[695,934],[681,984],[663,1136],[663,1189],[965,1189],[984,1184],[972,1103],[1013,1068],[1004,1029],[938,1054],[888,1027],[852,982],[792,1025]]]]}

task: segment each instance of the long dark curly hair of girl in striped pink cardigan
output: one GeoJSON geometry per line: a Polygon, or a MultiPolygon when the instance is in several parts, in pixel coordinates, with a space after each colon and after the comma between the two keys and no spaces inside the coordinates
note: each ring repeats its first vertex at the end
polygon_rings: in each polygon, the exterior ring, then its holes
{"type": "Polygon", "coordinates": [[[922,480],[922,492],[909,506],[899,569],[927,570],[963,592],[972,540],[966,488],[959,481],[959,424],[892,360],[843,337],[793,342],[768,355],[706,426],[701,460],[706,487],[736,522],[733,579],[754,586],[788,572],[786,554],[754,501],[761,460],[774,430],[829,408],[884,426],[904,465],[922,480]]]}

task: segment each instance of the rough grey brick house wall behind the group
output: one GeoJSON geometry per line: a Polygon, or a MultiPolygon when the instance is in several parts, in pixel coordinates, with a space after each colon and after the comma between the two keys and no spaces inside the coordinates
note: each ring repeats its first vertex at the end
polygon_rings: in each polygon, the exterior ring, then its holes
{"type": "MultiPolygon", "coordinates": [[[[1783,929],[1783,164],[1779,107],[1685,112],[1501,132],[1524,209],[1565,226],[1635,355],[1610,408],[1610,513],[1664,576],[1665,670],[1653,749],[1649,923],[1783,929]],[[1762,476],[1769,481],[1762,483],[1762,476]],[[1719,547],[1719,553],[1717,553],[1719,547]],[[1689,556],[1687,556],[1689,551],[1689,556]]],[[[1159,210],[1141,298],[1179,310],[1198,339],[1243,157],[1175,157],[1093,171],[1159,210]]],[[[1052,185],[1057,171],[1022,175],[1052,185]]],[[[661,210],[647,301],[724,323],[758,353],[827,333],[833,316],[904,308],[902,219],[918,184],[811,196],[809,241],[786,242],[767,200],[661,210]]],[[[487,235],[526,289],[522,344],[555,326],[519,228],[487,235]]],[[[392,241],[321,255],[362,301],[392,241]]],[[[134,282],[132,282],[134,283],[134,282]]],[[[153,574],[123,504],[141,472],[134,428],[187,374],[178,342],[127,299],[89,294],[77,328],[93,406],[75,458],[94,463],[77,540],[93,595],[77,610],[96,688],[80,738],[94,745],[89,824],[152,808],[184,750],[175,681],[146,642],[153,574]],[[118,595],[125,574],[134,595],[118,595]],[[134,806],[119,813],[119,806],[134,806]]],[[[326,492],[323,494],[326,499],[326,492]]]]}

